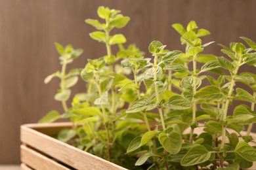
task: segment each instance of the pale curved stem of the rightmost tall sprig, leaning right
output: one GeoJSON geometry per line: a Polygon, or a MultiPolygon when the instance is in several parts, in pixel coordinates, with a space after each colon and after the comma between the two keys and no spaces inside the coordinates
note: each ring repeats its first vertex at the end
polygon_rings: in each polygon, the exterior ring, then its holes
{"type": "MultiPolygon", "coordinates": [[[[241,65],[241,62],[242,62],[242,57],[240,56],[239,61],[236,65],[236,67],[235,67],[235,70],[234,70],[233,74],[232,74],[230,89],[228,91],[228,96],[226,97],[226,103],[224,105],[224,112],[223,112],[223,120],[224,121],[226,121],[226,116],[228,114],[228,105],[229,105],[231,95],[232,95],[232,92],[234,90],[234,85],[235,85],[235,82],[236,82],[235,76],[238,74],[238,69],[241,65]]],[[[221,148],[224,148],[225,141],[226,141],[226,126],[223,124],[223,134],[222,134],[221,148]]]]}

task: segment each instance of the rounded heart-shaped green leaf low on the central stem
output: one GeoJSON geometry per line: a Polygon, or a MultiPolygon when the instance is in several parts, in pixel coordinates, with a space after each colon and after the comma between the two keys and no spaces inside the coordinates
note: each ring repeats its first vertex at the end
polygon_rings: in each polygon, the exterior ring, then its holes
{"type": "Polygon", "coordinates": [[[181,150],[182,137],[179,133],[173,131],[169,135],[164,132],[160,132],[158,135],[158,139],[170,154],[178,154],[181,150]]]}

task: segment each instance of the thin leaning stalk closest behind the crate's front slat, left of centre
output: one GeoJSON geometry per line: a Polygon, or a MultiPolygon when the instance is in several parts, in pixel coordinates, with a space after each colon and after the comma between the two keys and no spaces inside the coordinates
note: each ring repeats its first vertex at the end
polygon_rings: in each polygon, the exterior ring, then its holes
{"type": "MultiPolygon", "coordinates": [[[[96,80],[96,84],[97,84],[97,87],[98,87],[98,94],[101,96],[102,95],[102,92],[101,92],[101,89],[100,89],[100,78],[98,76],[98,73],[95,72],[95,80],[96,80]]],[[[106,135],[107,135],[107,139],[108,139],[108,144],[107,144],[107,148],[108,148],[108,160],[110,161],[111,160],[111,152],[110,152],[110,144],[111,144],[111,140],[110,140],[110,131],[108,129],[108,125],[106,124],[107,122],[107,117],[106,117],[106,110],[104,108],[104,105],[100,105],[101,109],[102,109],[102,114],[103,114],[103,119],[104,119],[104,127],[106,129],[106,135]]]]}

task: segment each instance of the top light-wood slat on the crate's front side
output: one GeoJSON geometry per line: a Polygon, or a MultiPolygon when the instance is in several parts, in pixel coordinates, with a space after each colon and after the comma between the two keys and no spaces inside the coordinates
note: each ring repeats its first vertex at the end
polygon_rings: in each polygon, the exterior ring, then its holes
{"type": "Polygon", "coordinates": [[[40,133],[31,126],[21,126],[21,141],[75,169],[125,169],[40,133]]]}

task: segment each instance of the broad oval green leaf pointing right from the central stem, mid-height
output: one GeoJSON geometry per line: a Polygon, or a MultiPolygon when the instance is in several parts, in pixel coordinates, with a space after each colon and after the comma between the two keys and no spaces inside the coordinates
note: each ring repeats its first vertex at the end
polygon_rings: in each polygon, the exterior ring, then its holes
{"type": "Polygon", "coordinates": [[[184,110],[190,109],[191,102],[188,99],[185,99],[181,95],[173,95],[169,98],[167,103],[165,103],[166,107],[170,109],[184,110]]]}

